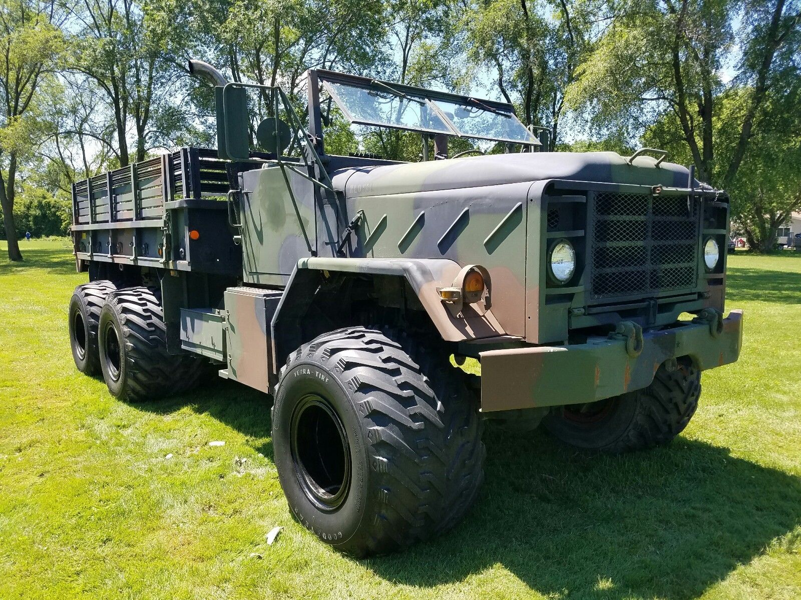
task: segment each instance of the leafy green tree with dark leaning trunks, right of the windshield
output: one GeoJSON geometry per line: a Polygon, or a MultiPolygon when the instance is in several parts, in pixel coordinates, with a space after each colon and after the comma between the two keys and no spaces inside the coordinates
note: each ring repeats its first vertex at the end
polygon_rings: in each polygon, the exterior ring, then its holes
{"type": "Polygon", "coordinates": [[[799,81],[796,2],[622,2],[566,102],[594,135],[694,164],[729,191],[751,248],[768,249],[799,206],[799,81]]]}

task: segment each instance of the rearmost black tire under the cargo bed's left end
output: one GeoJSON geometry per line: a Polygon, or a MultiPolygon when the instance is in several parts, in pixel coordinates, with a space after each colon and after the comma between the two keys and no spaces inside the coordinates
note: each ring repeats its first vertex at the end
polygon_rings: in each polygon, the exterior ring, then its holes
{"type": "Polygon", "coordinates": [[[78,285],[70,298],[70,348],[75,367],[87,375],[99,375],[98,323],[106,297],[117,288],[111,281],[78,285]]]}

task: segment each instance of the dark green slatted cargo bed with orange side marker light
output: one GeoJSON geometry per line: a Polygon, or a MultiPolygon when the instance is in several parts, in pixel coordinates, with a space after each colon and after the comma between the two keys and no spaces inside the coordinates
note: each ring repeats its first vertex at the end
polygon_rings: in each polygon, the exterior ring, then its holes
{"type": "Polygon", "coordinates": [[[272,158],[252,152],[251,161],[232,162],[215,150],[183,147],[74,183],[78,268],[97,261],[238,275],[227,193],[239,172],[272,158]]]}

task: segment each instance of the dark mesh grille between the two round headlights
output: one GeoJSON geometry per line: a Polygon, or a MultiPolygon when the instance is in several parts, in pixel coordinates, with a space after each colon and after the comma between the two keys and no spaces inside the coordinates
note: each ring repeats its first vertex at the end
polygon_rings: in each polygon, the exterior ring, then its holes
{"type": "Polygon", "coordinates": [[[686,196],[598,192],[590,296],[647,296],[698,283],[698,203],[686,196]]]}

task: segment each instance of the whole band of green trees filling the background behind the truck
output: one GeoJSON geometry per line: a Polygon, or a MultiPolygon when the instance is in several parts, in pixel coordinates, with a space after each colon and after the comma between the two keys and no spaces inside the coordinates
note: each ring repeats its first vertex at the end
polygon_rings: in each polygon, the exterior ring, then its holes
{"type": "MultiPolygon", "coordinates": [[[[324,68],[484,88],[524,123],[549,127],[549,150],[664,148],[731,191],[755,247],[771,245],[777,219],[795,206],[798,127],[785,118],[801,113],[795,0],[0,0],[0,8],[8,215],[18,174],[55,194],[155,151],[213,146],[211,86],[188,76],[190,57],[234,81],[280,85],[301,119],[305,71],[324,68]]],[[[253,139],[273,98],[248,94],[253,139]]],[[[328,151],[413,161],[421,144],[409,132],[351,127],[342,115],[332,115],[326,138],[328,151]]],[[[452,155],[469,149],[506,151],[451,140],[452,155]]]]}

